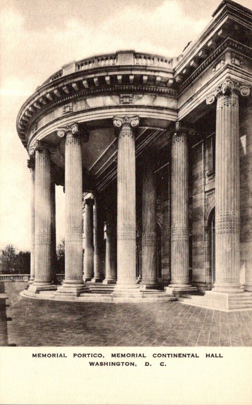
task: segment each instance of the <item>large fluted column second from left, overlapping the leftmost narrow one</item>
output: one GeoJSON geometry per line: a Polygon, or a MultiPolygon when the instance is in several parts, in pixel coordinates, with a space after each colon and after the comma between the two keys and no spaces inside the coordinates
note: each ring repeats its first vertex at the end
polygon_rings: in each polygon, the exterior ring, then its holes
{"type": "Polygon", "coordinates": [[[55,289],[52,285],[52,200],[50,149],[37,141],[35,151],[35,277],[32,291],[55,289]]]}

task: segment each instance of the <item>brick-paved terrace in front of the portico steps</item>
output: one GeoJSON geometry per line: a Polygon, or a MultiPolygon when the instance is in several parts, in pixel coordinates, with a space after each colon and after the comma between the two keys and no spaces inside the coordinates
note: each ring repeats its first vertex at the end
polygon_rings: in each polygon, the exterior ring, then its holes
{"type": "Polygon", "coordinates": [[[6,315],[12,318],[9,345],[252,346],[249,310],[221,312],[178,302],[47,301],[20,297],[23,282],[4,286],[6,315]]]}

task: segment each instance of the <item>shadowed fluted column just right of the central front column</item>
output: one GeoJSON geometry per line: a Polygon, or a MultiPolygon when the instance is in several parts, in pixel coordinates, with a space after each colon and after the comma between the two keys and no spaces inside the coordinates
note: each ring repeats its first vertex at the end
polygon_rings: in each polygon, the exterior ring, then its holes
{"type": "Polygon", "coordinates": [[[156,184],[154,159],[148,151],[142,168],[142,271],[141,288],[157,286],[156,184]]]}

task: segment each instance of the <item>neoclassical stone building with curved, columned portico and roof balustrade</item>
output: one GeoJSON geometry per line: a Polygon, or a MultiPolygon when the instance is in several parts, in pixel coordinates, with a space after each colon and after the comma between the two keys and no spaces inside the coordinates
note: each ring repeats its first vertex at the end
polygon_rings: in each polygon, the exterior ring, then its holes
{"type": "Polygon", "coordinates": [[[252,307],[251,85],[252,12],[230,0],[178,57],[118,51],[50,76],[17,117],[32,187],[23,294],[252,307]]]}

